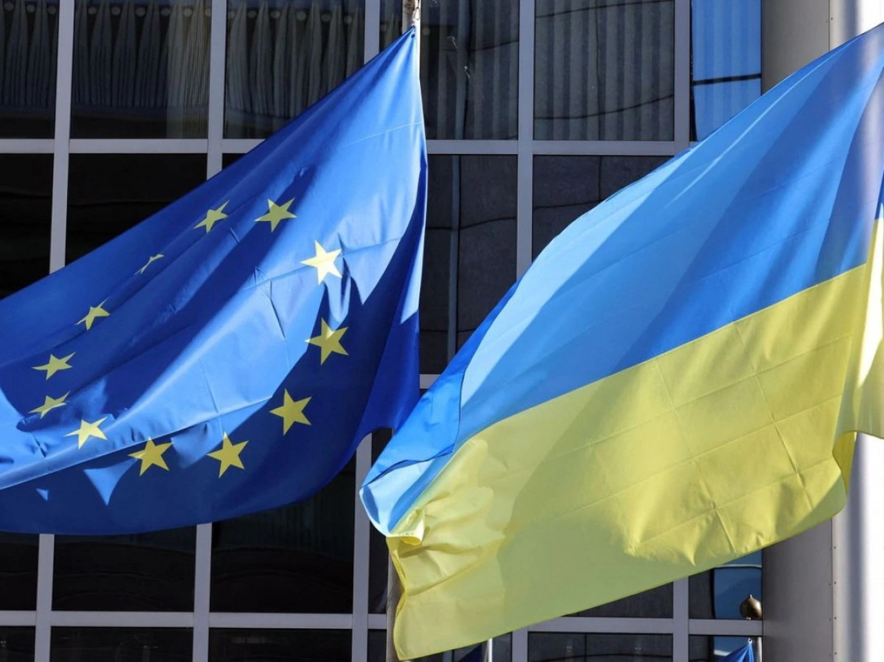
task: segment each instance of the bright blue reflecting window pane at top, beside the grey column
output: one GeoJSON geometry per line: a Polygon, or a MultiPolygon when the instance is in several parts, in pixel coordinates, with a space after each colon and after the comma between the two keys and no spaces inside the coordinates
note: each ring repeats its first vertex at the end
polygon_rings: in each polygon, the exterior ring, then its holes
{"type": "Polygon", "coordinates": [[[692,0],[691,140],[761,95],[761,0],[692,0]]]}

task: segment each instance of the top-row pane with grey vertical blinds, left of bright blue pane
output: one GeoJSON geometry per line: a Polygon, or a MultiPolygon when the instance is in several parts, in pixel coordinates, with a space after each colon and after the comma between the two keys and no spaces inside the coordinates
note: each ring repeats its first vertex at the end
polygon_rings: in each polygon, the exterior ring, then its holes
{"type": "Polygon", "coordinates": [[[534,137],[671,141],[674,0],[537,3],[534,137]]]}

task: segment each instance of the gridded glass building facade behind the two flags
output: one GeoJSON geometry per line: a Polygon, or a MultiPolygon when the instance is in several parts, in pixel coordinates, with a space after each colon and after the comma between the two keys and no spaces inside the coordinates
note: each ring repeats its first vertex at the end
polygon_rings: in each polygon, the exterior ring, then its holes
{"type": "MultiPolygon", "coordinates": [[[[422,14],[427,386],[566,224],[760,95],[763,14],[761,0],[423,0],[422,14]]],[[[401,30],[395,0],[5,0],[0,17],[0,296],[211,177],[401,30]]],[[[0,534],[0,662],[385,659],[385,545],[356,497],[384,443],[276,511],[0,534]]],[[[779,581],[758,552],[483,654],[712,661],[766,634],[740,615],[750,594],[789,613],[800,582],[781,568],[802,553],[825,566],[820,539],[773,553],[779,581]]]]}

